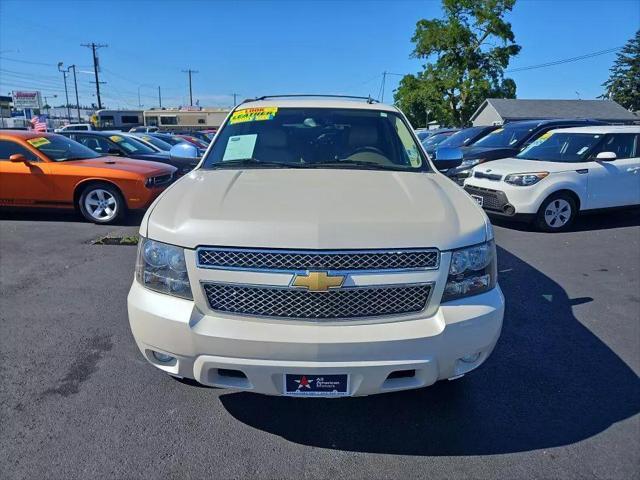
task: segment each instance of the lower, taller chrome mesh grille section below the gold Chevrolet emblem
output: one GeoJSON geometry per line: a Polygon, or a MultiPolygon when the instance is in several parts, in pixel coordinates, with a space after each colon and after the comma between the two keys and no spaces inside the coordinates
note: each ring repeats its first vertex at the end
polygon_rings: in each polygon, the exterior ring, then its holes
{"type": "Polygon", "coordinates": [[[291,288],[204,283],[213,310],[242,315],[301,319],[348,319],[423,310],[430,284],[343,288],[309,292],[291,288]]]}

